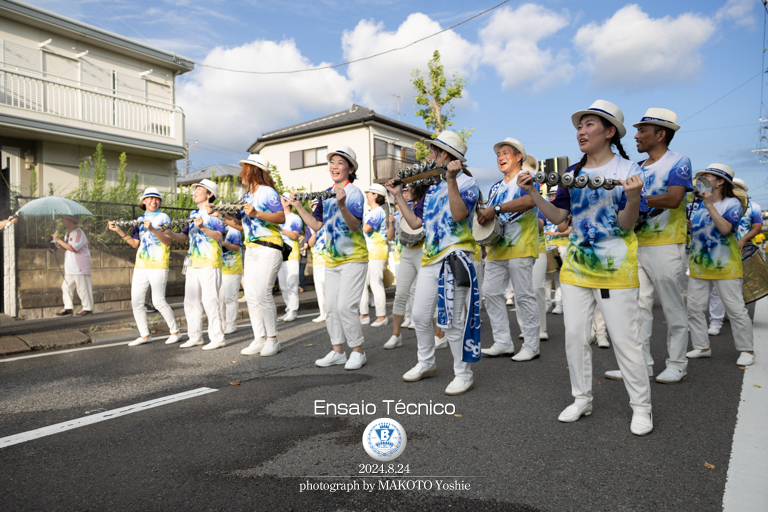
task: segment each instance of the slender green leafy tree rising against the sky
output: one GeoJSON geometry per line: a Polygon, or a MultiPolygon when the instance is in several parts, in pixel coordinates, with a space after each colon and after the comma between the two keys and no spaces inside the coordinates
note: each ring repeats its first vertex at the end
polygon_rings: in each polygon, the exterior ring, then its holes
{"type": "MultiPolygon", "coordinates": [[[[418,69],[411,73],[411,82],[416,89],[416,105],[421,110],[416,112],[416,116],[424,119],[424,124],[429,130],[432,130],[434,139],[440,132],[453,126],[453,105],[449,103],[460,98],[467,81],[454,73],[451,81],[445,77],[445,70],[440,63],[440,52],[435,50],[432,54],[432,60],[427,64],[429,73],[423,76],[418,69]]],[[[474,131],[474,128],[464,128],[457,132],[459,137],[466,142],[474,131]]],[[[416,159],[425,160],[429,155],[429,149],[424,144],[424,140],[416,143],[416,159]]]]}

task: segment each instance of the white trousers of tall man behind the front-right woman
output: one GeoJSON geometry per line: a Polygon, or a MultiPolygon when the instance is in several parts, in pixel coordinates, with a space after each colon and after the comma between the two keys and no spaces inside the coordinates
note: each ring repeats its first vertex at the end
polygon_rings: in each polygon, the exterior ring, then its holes
{"type": "Polygon", "coordinates": [[[637,323],[643,344],[645,364],[653,366],[651,334],[653,332],[653,291],[659,294],[661,308],[667,321],[667,368],[685,371],[688,358],[688,311],[680,288],[680,275],[685,272],[683,244],[638,247],[637,261],[640,277],[640,301],[637,323]]]}

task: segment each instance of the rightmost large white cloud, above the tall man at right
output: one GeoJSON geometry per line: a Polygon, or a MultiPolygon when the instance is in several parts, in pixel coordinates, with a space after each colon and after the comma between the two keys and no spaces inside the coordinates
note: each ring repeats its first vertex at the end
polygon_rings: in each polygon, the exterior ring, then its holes
{"type": "Polygon", "coordinates": [[[581,27],[574,43],[596,82],[643,87],[695,79],[701,47],[715,28],[712,18],[699,14],[654,19],[629,4],[602,25],[581,27]]]}

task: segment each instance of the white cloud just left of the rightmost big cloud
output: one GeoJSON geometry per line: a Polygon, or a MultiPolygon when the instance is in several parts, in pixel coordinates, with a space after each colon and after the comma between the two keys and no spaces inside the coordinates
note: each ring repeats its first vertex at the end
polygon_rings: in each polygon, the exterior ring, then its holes
{"type": "Polygon", "coordinates": [[[517,9],[502,7],[480,30],[483,64],[496,69],[502,87],[530,85],[533,90],[568,83],[573,73],[568,50],[556,54],[539,42],[568,26],[568,13],[556,13],[536,4],[517,9]]]}

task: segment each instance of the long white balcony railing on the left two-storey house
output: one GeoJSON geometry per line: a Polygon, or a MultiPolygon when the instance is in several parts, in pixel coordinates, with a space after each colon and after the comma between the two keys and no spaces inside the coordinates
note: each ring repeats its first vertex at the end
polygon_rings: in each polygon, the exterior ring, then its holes
{"type": "Polygon", "coordinates": [[[149,135],[175,136],[172,105],[153,105],[96,87],[67,85],[18,69],[0,67],[0,105],[149,135]]]}

